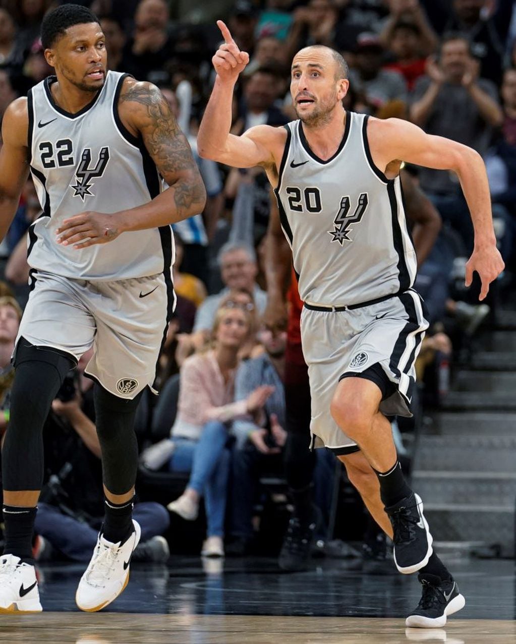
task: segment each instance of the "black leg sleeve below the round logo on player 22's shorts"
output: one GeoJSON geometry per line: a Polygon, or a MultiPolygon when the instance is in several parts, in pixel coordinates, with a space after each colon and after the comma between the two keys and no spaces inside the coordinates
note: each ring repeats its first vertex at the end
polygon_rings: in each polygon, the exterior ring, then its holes
{"type": "Polygon", "coordinates": [[[119,398],[95,384],[95,424],[102,450],[102,477],[111,494],[134,487],[138,468],[135,416],[142,392],[133,400],[119,398]]]}

